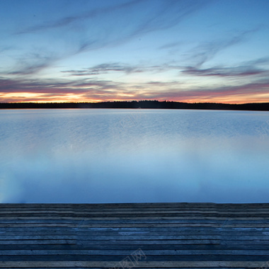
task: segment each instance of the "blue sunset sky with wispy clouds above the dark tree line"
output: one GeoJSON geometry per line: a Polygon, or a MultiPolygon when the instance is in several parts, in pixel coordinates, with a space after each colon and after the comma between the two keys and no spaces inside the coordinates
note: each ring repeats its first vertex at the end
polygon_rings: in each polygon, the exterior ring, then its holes
{"type": "Polygon", "coordinates": [[[0,102],[269,102],[268,0],[0,0],[0,102]]]}

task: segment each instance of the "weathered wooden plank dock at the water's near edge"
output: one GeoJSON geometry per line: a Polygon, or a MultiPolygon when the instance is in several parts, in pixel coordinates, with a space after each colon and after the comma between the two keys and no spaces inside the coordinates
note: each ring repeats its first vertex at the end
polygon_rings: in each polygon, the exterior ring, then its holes
{"type": "Polygon", "coordinates": [[[269,268],[269,204],[0,204],[0,268],[269,268]]]}

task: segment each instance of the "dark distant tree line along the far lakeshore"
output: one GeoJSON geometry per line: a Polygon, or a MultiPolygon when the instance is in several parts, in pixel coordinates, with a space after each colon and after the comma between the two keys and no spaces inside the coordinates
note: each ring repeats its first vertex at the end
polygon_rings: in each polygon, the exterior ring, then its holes
{"type": "Polygon", "coordinates": [[[33,108],[157,108],[157,109],[208,109],[208,110],[264,110],[269,103],[182,103],[173,101],[114,101],[101,103],[0,103],[0,109],[33,108]]]}

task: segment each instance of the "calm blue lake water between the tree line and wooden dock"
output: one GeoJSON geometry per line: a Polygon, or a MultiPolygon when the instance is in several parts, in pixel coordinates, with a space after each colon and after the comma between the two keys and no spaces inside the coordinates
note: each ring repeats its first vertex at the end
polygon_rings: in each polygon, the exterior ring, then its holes
{"type": "Polygon", "coordinates": [[[0,202],[269,202],[269,113],[0,110],[0,202]]]}

